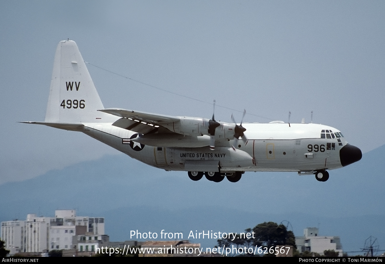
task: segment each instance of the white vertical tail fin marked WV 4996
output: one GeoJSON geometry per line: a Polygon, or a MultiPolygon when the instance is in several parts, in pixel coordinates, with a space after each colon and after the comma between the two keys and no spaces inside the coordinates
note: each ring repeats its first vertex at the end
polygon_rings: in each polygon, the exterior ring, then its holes
{"type": "Polygon", "coordinates": [[[94,82],[76,43],[63,40],[57,45],[45,122],[114,122],[104,109],[94,82]]]}

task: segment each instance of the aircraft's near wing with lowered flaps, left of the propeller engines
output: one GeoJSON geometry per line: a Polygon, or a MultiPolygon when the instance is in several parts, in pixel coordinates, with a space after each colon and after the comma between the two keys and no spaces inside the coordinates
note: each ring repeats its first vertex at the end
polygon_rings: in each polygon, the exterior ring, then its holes
{"type": "MultiPolygon", "coordinates": [[[[171,115],[159,115],[118,108],[102,109],[98,111],[122,117],[112,125],[144,135],[157,132],[159,128],[164,128],[164,124],[179,122],[179,117],[171,115]]],[[[166,130],[164,131],[166,133],[171,133],[171,131],[166,128],[164,128],[164,130],[166,130]]]]}

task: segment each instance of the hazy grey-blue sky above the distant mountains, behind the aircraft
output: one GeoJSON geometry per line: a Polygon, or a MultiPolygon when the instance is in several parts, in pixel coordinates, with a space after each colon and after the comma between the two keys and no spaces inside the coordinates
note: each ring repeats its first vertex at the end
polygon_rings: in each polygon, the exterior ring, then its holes
{"type": "Polygon", "coordinates": [[[244,122],[313,111],[363,152],[385,143],[383,1],[0,1],[0,25],[0,184],[119,154],[17,123],[44,120],[67,38],[105,108],[210,118],[215,99],[227,122],[243,109],[244,122]]]}

